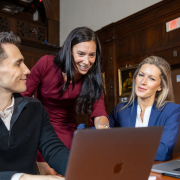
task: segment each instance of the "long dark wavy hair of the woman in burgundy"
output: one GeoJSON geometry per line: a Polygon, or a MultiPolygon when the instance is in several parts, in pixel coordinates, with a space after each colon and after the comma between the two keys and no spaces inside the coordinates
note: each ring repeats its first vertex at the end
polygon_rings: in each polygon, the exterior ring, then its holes
{"type": "Polygon", "coordinates": [[[87,74],[83,75],[82,89],[76,100],[76,112],[81,114],[91,114],[93,104],[104,93],[101,77],[102,52],[96,34],[87,27],[78,27],[72,30],[54,59],[54,64],[67,74],[67,82],[60,90],[62,94],[68,88],[70,81],[72,81],[73,89],[75,86],[73,56],[71,53],[73,46],[92,40],[96,44],[96,60],[87,74]]]}

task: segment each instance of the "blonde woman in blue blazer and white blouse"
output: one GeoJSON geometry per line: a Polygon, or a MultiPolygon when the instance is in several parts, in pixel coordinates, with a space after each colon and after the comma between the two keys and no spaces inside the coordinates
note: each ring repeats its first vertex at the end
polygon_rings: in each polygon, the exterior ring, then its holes
{"type": "Polygon", "coordinates": [[[110,127],[164,126],[155,160],[168,160],[179,133],[180,105],[173,101],[170,65],[150,56],[134,73],[129,102],[118,104],[109,115],[110,127]]]}

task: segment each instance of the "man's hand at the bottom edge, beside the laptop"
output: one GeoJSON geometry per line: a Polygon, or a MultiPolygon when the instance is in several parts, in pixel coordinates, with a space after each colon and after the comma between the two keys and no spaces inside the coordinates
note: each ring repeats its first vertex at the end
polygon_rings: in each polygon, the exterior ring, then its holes
{"type": "Polygon", "coordinates": [[[19,180],[65,180],[62,176],[23,174],[19,180]]]}

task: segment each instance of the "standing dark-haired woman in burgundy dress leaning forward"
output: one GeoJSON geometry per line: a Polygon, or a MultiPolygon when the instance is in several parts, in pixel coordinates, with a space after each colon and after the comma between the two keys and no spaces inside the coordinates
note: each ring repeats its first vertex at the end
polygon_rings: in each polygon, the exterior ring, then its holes
{"type": "MultiPolygon", "coordinates": [[[[90,120],[97,129],[109,127],[101,60],[101,46],[95,33],[79,27],[70,32],[57,56],[40,58],[28,76],[27,90],[22,95],[32,96],[37,90],[36,97],[69,149],[77,127],[76,112],[91,114],[90,120]]],[[[55,174],[40,153],[37,162],[41,174],[55,174]]]]}

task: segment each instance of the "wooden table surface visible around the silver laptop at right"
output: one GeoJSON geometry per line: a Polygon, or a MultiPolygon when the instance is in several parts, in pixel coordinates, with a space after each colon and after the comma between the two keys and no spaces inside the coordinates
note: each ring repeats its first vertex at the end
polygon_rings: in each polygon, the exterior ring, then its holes
{"type": "MultiPolygon", "coordinates": [[[[180,153],[173,154],[171,161],[176,160],[176,159],[180,159],[180,153]]],[[[155,161],[154,164],[159,164],[159,163],[163,163],[163,162],[155,161]]],[[[156,176],[156,180],[175,180],[175,179],[178,180],[177,178],[162,176],[161,174],[153,173],[153,172],[150,173],[150,176],[156,176]]]]}

